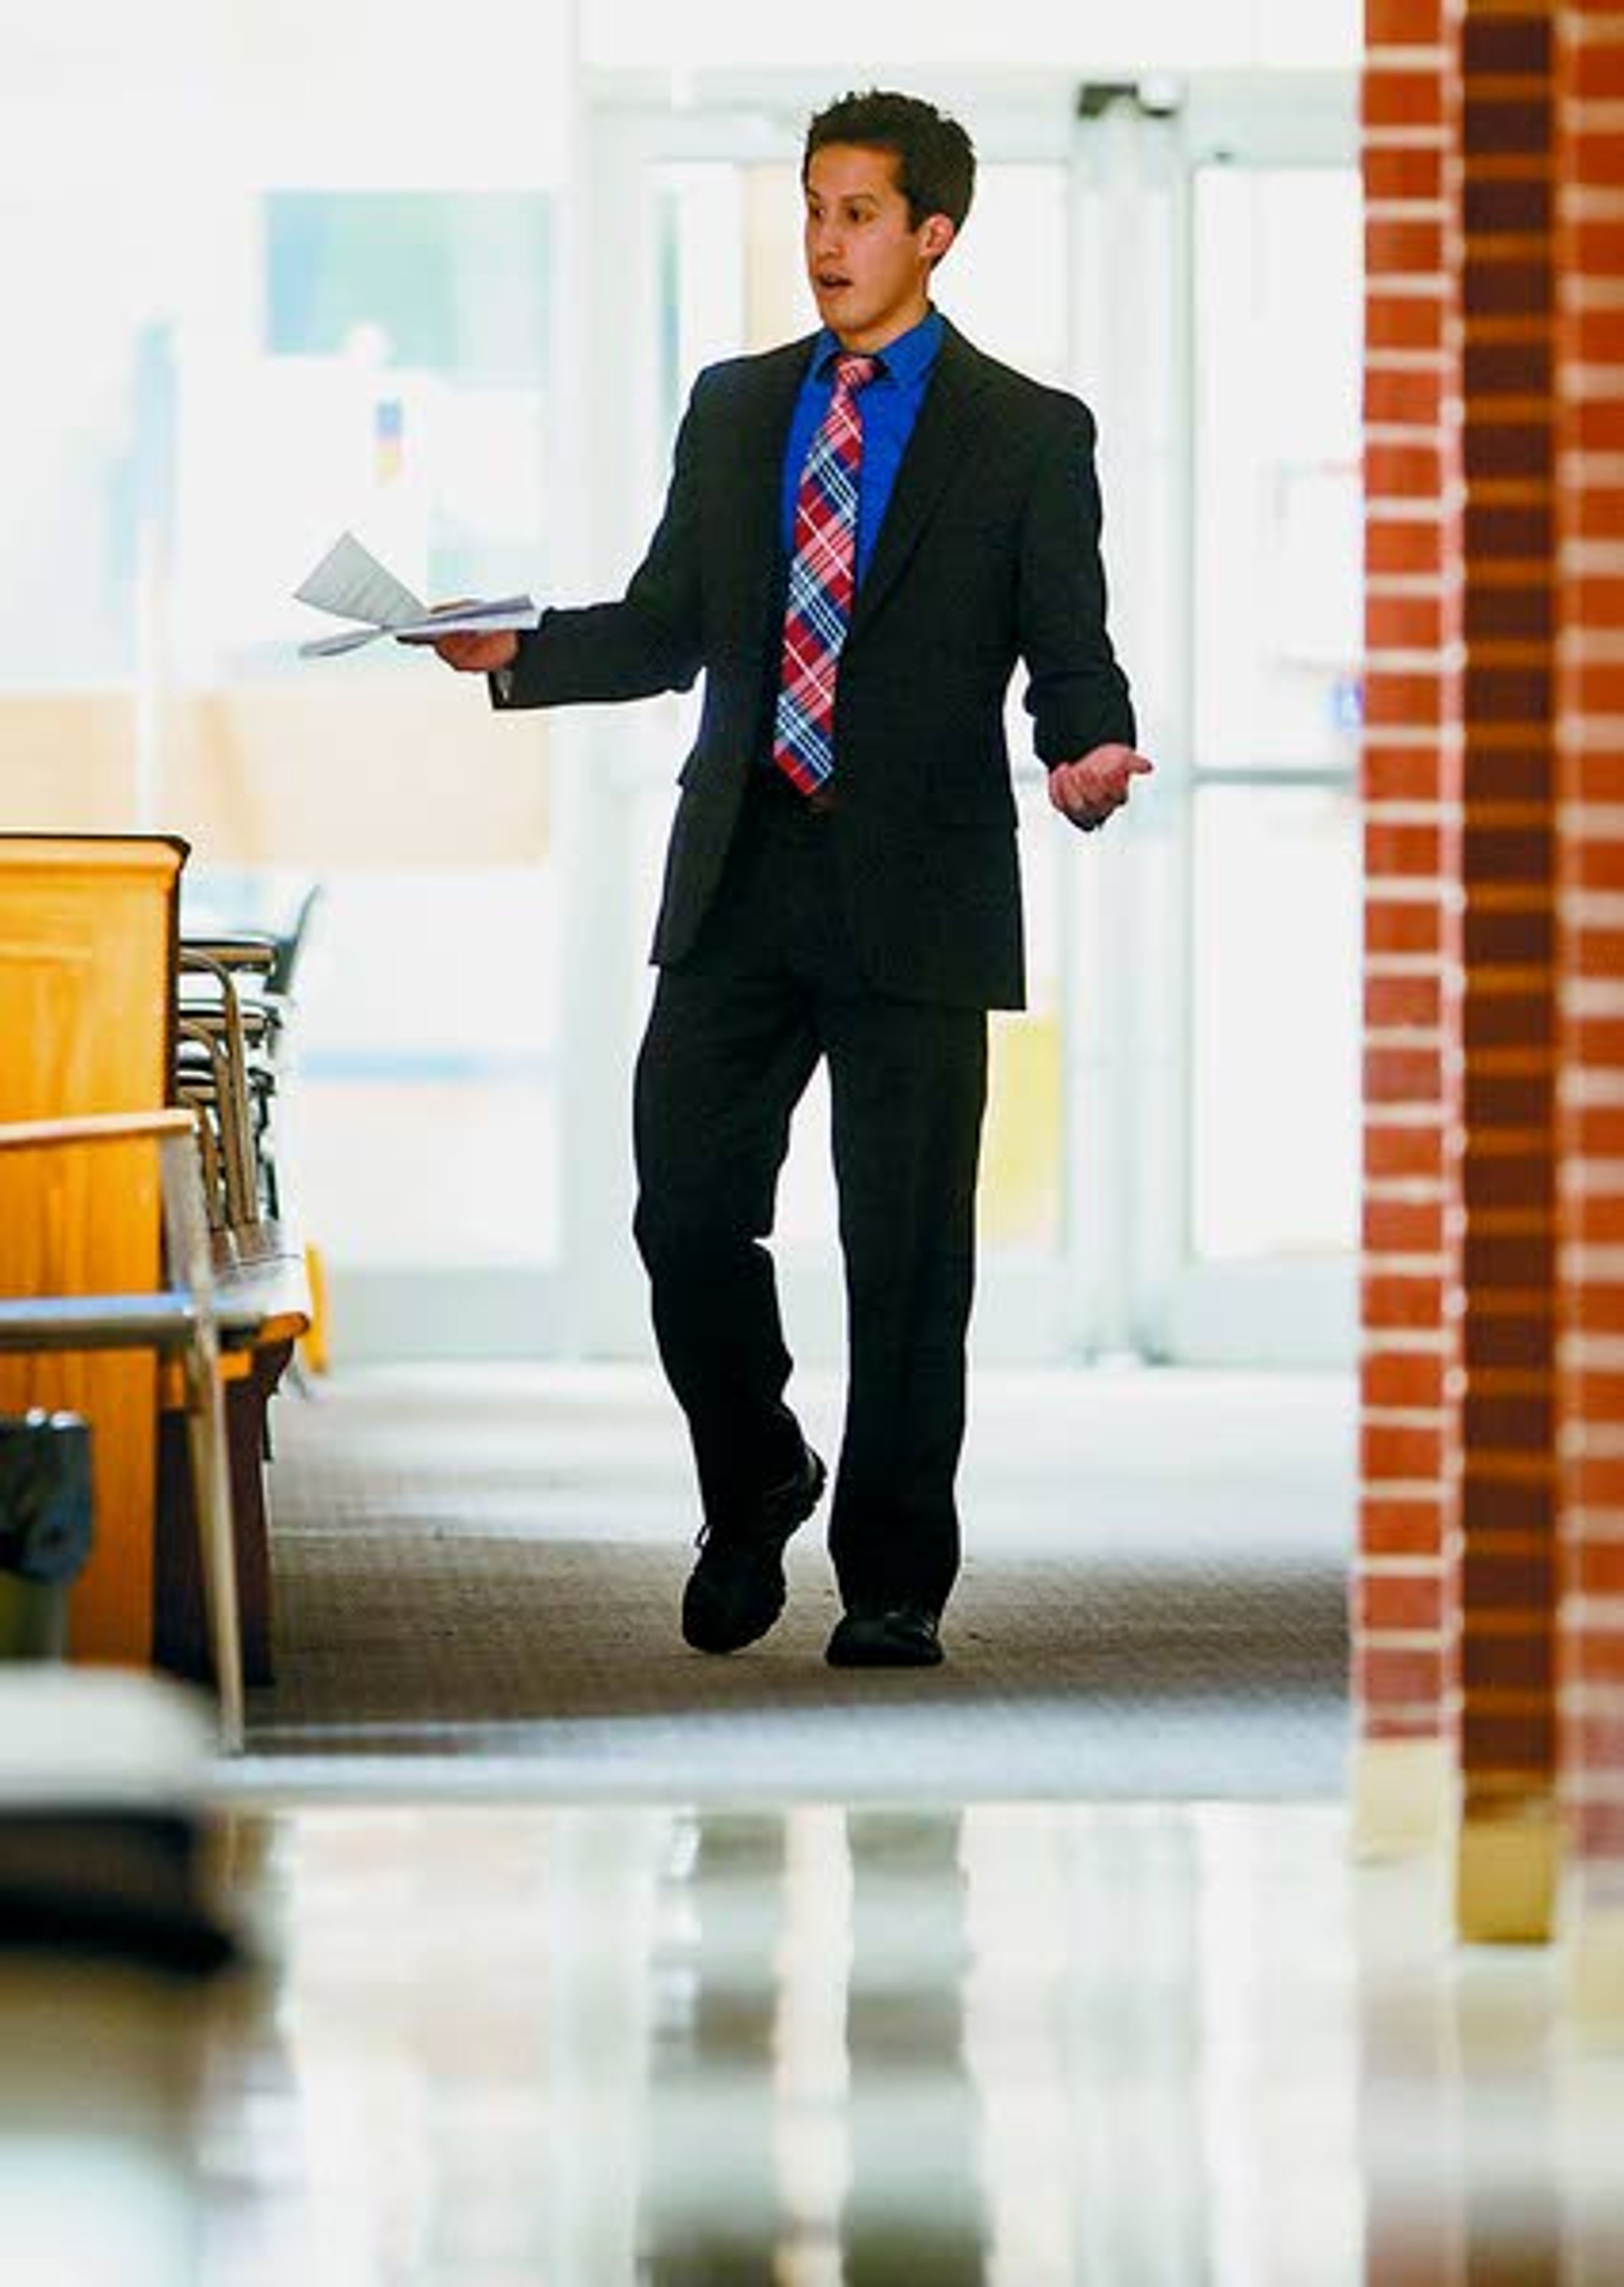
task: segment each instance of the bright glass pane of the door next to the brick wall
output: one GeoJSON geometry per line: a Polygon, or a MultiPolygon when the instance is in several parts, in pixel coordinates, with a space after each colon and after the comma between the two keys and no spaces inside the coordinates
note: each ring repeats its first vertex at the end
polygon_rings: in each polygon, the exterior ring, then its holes
{"type": "Polygon", "coordinates": [[[1240,1310],[1256,1349],[1247,1320],[1290,1297],[1292,1340],[1324,1345],[1352,1301],[1359,1196],[1359,183],[1203,165],[1192,190],[1194,1054],[1176,1308],[1185,1347],[1212,1347],[1240,1310]]]}

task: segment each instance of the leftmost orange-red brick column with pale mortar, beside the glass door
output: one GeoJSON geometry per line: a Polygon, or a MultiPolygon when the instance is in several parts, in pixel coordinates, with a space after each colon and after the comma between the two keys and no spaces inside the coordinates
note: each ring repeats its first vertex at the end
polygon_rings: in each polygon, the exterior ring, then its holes
{"type": "Polygon", "coordinates": [[[1354,1832],[1439,1839],[1443,1745],[1443,11],[1366,0],[1366,1132],[1354,1832]]]}

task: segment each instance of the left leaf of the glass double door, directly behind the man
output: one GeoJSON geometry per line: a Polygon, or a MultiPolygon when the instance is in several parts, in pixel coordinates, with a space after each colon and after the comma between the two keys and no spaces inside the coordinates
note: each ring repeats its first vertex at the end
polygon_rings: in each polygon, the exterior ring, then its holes
{"type": "MultiPolygon", "coordinates": [[[[620,361],[618,370],[602,368],[581,391],[599,412],[615,400],[638,437],[638,451],[631,457],[622,453],[602,501],[604,528],[611,519],[618,526],[611,583],[624,579],[652,528],[670,437],[700,366],[817,325],[803,286],[798,188],[801,121],[812,101],[807,96],[805,105],[771,114],[702,101],[675,114],[608,105],[583,137],[602,178],[602,201],[590,190],[586,194],[588,213],[602,215],[604,201],[622,201],[615,261],[590,261],[595,290],[618,295],[622,316],[592,334],[656,345],[643,377],[620,361]],[[636,185],[631,204],[627,185],[636,185]]],[[[1073,354],[1066,295],[1070,206],[1064,114],[1043,146],[1032,146],[1029,133],[1013,149],[984,142],[974,226],[942,272],[940,302],[970,338],[1050,382],[1066,380],[1073,354]],[[1036,293],[1027,288],[1034,270],[1043,279],[1036,293]]],[[[613,592],[613,585],[602,592],[613,592]]],[[[572,963],[590,1002],[579,1031],[581,1084],[567,1079],[563,1089],[565,1105],[583,1107],[572,1153],[581,1169],[574,1196],[595,1221],[597,1240],[586,1237],[592,1221],[579,1226],[576,1304],[579,1324],[590,1329],[595,1347],[645,1340],[636,1278],[604,1269],[629,1253],[629,1169],[622,1155],[606,1160],[599,1116],[606,1109],[606,1059],[622,1075],[613,1089],[624,1098],[647,1006],[643,951],[659,892],[672,775],[686,750],[693,707],[695,700],[661,700],[599,711],[597,720],[590,714],[560,718],[556,748],[560,821],[574,819],[583,864],[595,878],[613,867],[613,906],[599,897],[595,910],[599,922],[613,910],[620,929],[613,945],[597,947],[590,967],[572,963]],[[606,858],[611,851],[615,855],[606,858]],[[595,1134],[586,1127],[586,1107],[592,1107],[595,1134]]],[[[993,1027],[977,1342],[981,1354],[1050,1358],[1070,1347],[1064,1006],[1070,901],[1080,878],[1075,860],[1084,844],[1048,810],[1018,693],[1011,698],[1011,748],[1022,812],[1032,1006],[1020,1018],[995,1018],[993,1027]]],[[[574,869],[567,874],[574,880],[574,869]]],[[[565,1219],[565,1244],[570,1228],[565,1219]]],[[[844,1299],[821,1077],[796,1121],[775,1253],[798,1356],[839,1358],[844,1299]]]]}

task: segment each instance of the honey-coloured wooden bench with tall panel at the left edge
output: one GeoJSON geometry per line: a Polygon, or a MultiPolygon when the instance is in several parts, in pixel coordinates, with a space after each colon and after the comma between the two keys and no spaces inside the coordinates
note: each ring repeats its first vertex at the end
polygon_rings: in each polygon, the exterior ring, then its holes
{"type": "MultiPolygon", "coordinates": [[[[178,878],[167,835],[0,835],[0,1123],[126,1114],[176,1086],[178,878]]],[[[153,1281],[158,1178],[133,1139],[69,1162],[0,1166],[0,1294],[140,1292],[153,1281]]],[[[238,1182],[240,1201],[240,1182],[238,1182]]],[[[309,1326],[286,1224],[213,1217],[245,1670],[270,1674],[265,1432],[309,1326]]],[[[213,1674],[183,1377],[137,1349],[0,1358],[0,1411],[82,1413],[94,1429],[96,1546],[71,1605],[71,1656],[213,1674]]],[[[229,1688],[220,1676],[222,1690],[229,1688]]]]}

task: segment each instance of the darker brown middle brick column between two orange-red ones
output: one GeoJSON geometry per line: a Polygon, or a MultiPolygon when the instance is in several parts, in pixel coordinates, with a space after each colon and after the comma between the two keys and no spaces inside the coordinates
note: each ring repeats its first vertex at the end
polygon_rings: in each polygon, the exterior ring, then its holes
{"type": "Polygon", "coordinates": [[[1455,1390],[1446,1596],[1457,1928],[1544,1937],[1555,1882],[1553,59],[1549,0],[1450,0],[1459,963],[1446,1025],[1455,1390]]]}

